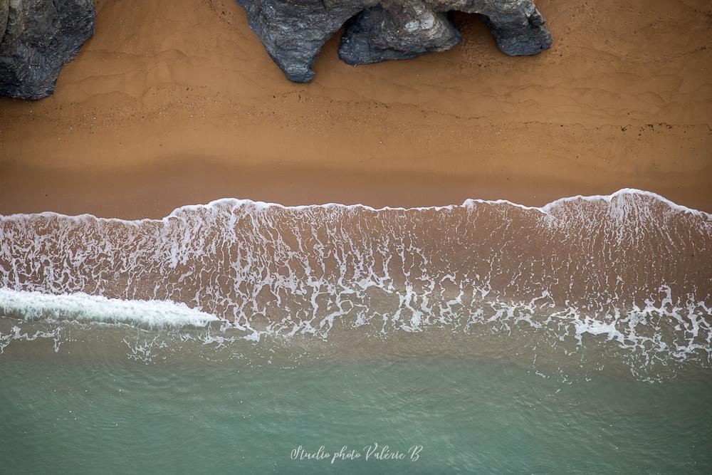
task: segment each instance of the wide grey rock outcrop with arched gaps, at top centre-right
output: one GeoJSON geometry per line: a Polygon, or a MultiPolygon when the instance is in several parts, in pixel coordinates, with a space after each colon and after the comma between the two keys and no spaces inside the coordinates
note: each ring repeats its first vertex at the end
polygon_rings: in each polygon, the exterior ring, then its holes
{"type": "Polygon", "coordinates": [[[552,38],[533,0],[237,0],[290,80],[308,82],[324,43],[346,24],[339,56],[352,64],[414,58],[461,40],[449,11],[479,14],[503,53],[533,55],[552,38]]]}

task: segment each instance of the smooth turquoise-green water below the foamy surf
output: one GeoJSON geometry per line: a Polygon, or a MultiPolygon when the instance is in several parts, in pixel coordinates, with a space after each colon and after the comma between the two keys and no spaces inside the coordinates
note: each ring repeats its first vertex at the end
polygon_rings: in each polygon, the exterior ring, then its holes
{"type": "Polygon", "coordinates": [[[0,355],[1,473],[712,473],[706,370],[572,380],[407,345],[290,365],[249,350],[132,359],[103,344],[13,343],[0,355]],[[374,443],[404,458],[366,459],[374,443]],[[299,446],[362,456],[293,460],[299,446]]]}

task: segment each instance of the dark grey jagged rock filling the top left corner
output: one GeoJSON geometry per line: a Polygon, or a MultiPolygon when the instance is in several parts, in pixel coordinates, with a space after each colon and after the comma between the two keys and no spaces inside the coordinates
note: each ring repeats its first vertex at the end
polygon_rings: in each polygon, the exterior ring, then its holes
{"type": "Polygon", "coordinates": [[[93,0],[0,0],[0,96],[51,95],[95,17],[93,0]]]}

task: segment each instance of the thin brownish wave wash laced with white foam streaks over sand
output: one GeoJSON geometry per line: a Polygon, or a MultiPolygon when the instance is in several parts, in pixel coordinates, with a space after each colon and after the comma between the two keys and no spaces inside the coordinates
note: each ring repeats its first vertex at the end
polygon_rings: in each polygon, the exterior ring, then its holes
{"type": "Polygon", "coordinates": [[[155,321],[216,315],[254,336],[323,338],[337,322],[386,335],[525,327],[603,335],[637,361],[712,353],[712,216],[634,189],[542,208],[221,199],[139,221],[16,214],[0,218],[0,241],[0,286],[151,301],[155,321]]]}

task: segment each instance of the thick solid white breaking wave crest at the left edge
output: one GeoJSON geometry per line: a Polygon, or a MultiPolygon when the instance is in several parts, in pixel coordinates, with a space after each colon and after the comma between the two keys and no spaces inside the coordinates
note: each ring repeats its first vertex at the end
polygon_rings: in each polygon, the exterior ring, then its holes
{"type": "Polygon", "coordinates": [[[149,328],[204,327],[215,315],[171,301],[137,301],[90,296],[51,295],[0,288],[0,314],[23,320],[76,320],[127,323],[149,328]]]}

